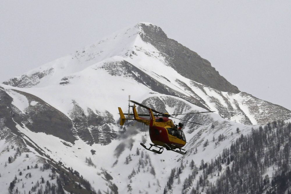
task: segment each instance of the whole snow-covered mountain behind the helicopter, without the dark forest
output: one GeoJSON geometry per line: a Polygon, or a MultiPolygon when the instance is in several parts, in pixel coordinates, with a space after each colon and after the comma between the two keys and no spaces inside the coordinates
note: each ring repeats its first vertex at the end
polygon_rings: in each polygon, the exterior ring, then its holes
{"type": "MultiPolygon", "coordinates": [[[[240,92],[207,60],[149,23],[9,79],[0,84],[0,97],[0,186],[7,193],[13,180],[20,193],[38,192],[31,187],[40,176],[52,179],[52,169],[70,181],[49,184],[62,183],[66,192],[163,193],[171,169],[181,163],[211,161],[253,125],[291,118],[288,109],[240,92]],[[162,112],[216,113],[180,116],[203,123],[185,124],[187,155],[157,155],[139,145],[150,142],[146,128],[127,125],[124,132],[118,126],[117,107],[127,110],[128,95],[162,112]],[[35,163],[44,166],[27,168],[35,163]],[[38,176],[19,177],[18,169],[38,176]]],[[[177,184],[169,192],[181,191],[177,184]]]]}

